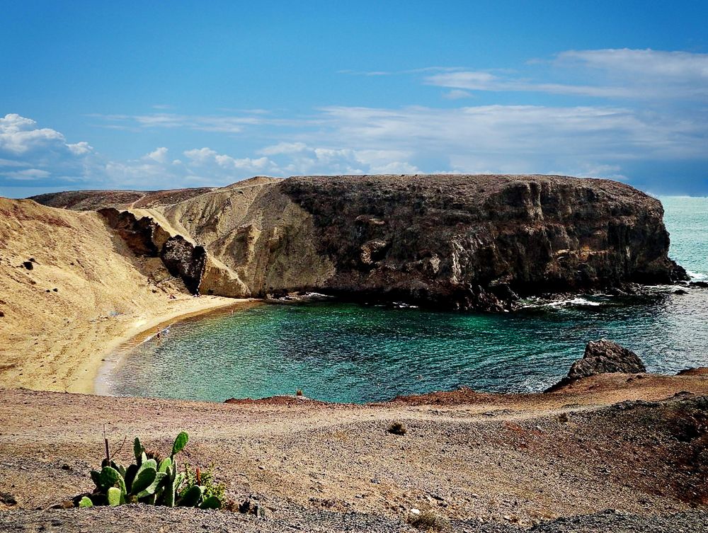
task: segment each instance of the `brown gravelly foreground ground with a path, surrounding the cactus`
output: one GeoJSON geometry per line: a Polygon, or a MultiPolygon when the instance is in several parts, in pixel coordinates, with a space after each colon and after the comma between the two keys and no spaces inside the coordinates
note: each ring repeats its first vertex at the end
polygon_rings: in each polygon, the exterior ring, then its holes
{"type": "Polygon", "coordinates": [[[708,393],[707,374],[605,374],[552,394],[462,390],[369,406],[0,391],[0,493],[17,501],[0,512],[0,529],[404,531],[417,508],[459,531],[515,531],[574,515],[594,516],[537,530],[703,531],[708,399],[691,393],[708,393]],[[605,407],[624,398],[651,402],[605,407]],[[393,420],[406,435],[386,431],[393,420]],[[135,435],[166,450],[188,430],[183,459],[215,462],[228,495],[258,498],[268,516],[46,510],[91,488],[104,423],[124,462],[135,435]]]}

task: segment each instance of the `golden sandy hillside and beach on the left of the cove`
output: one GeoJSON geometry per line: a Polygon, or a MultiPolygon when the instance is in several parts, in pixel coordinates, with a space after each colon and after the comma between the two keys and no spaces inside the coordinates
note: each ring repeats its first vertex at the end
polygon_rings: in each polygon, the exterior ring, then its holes
{"type": "Polygon", "coordinates": [[[90,392],[101,360],[123,340],[234,304],[191,297],[96,212],[0,198],[0,386],[90,392]]]}

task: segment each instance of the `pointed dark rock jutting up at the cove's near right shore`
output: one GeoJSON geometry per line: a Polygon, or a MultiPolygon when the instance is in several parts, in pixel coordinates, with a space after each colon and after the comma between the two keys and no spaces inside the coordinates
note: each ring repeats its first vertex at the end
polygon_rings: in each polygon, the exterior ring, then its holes
{"type": "Polygon", "coordinates": [[[585,347],[582,359],[573,363],[568,375],[560,382],[546,390],[552,392],[566,386],[578,379],[595,374],[609,374],[621,372],[622,374],[638,374],[646,372],[644,363],[632,350],[627,350],[612,340],[590,340],[585,347]]]}

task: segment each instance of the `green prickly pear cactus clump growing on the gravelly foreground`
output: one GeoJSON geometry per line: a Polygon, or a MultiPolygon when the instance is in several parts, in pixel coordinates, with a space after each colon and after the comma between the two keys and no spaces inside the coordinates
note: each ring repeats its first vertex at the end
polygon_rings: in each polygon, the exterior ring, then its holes
{"type": "Polygon", "coordinates": [[[79,500],[79,507],[148,503],[166,507],[221,508],[224,488],[213,483],[211,469],[208,471],[208,491],[202,485],[199,469],[193,479],[188,479],[188,466],[185,474],[177,474],[175,456],[184,449],[188,440],[189,435],[181,432],[172,445],[169,457],[163,458],[157,452],[145,452],[136,437],[133,444],[135,463],[127,468],[110,460],[108,440],[105,440],[105,459],[101,463],[101,471],[91,471],[96,489],[79,500]]]}

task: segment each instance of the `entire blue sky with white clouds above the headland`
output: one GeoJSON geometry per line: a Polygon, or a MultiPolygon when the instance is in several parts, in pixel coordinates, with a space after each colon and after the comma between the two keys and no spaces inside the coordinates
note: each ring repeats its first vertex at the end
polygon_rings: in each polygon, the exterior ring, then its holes
{"type": "Polygon", "coordinates": [[[708,195],[706,1],[0,0],[0,195],[555,173],[708,195]]]}

